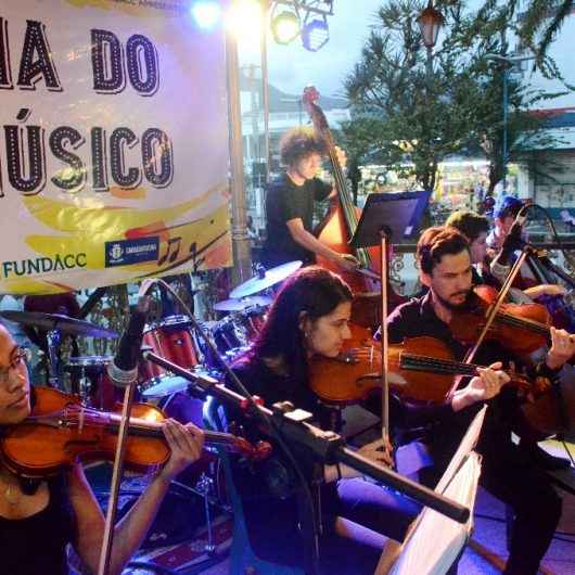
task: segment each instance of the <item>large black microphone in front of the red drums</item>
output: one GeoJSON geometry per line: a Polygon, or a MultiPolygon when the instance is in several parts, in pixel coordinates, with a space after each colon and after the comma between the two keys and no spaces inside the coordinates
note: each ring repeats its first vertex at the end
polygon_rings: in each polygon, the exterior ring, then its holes
{"type": "Polygon", "coordinates": [[[118,387],[127,387],[138,379],[138,360],[150,309],[150,297],[146,293],[153,284],[155,280],[142,282],[138,292],[138,304],[130,315],[128,327],[119,338],[116,355],[107,365],[106,372],[114,385],[118,387]]]}

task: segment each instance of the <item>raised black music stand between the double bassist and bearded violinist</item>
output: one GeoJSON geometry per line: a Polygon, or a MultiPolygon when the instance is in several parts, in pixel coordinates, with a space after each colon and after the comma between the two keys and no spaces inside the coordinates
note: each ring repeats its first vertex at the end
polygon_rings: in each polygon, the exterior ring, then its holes
{"type": "Polygon", "coordinates": [[[387,244],[414,235],[418,223],[427,205],[431,191],[371,193],[359,218],[349,245],[355,250],[380,245],[382,288],[382,437],[388,438],[389,400],[387,381],[387,244]]]}

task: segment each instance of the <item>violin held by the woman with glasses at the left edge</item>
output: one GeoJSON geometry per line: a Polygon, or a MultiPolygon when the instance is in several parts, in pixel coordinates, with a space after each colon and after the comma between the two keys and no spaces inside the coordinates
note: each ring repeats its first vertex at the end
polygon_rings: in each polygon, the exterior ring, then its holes
{"type": "MultiPolygon", "coordinates": [[[[78,458],[113,460],[120,414],[86,407],[79,396],[51,387],[35,387],[36,404],[22,423],[8,427],[0,439],[3,463],[24,477],[54,475],[78,458]]],[[[138,472],[153,472],[169,458],[162,432],[165,416],[148,404],[135,404],[126,444],[126,465],[138,472]]],[[[271,446],[252,446],[243,437],[202,430],[205,444],[225,446],[254,460],[266,459],[271,446]]]]}

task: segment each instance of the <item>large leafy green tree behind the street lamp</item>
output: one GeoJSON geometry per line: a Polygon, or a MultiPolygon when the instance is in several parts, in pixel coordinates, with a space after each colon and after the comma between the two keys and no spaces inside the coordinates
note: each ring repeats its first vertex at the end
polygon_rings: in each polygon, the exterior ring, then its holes
{"type": "MultiPolygon", "coordinates": [[[[443,41],[433,51],[433,69],[417,24],[425,3],[392,0],[378,12],[361,59],[345,89],[354,116],[343,127],[353,155],[369,156],[412,171],[433,189],[439,162],[453,154],[484,153],[490,161],[490,189],[502,177],[503,66],[486,54],[506,54],[509,13],[464,2],[437,2],[445,17],[443,41]],[[431,74],[430,74],[431,72],[431,74]]],[[[527,114],[544,94],[508,75],[508,152],[520,157],[553,140],[542,122],[527,114]]]]}

